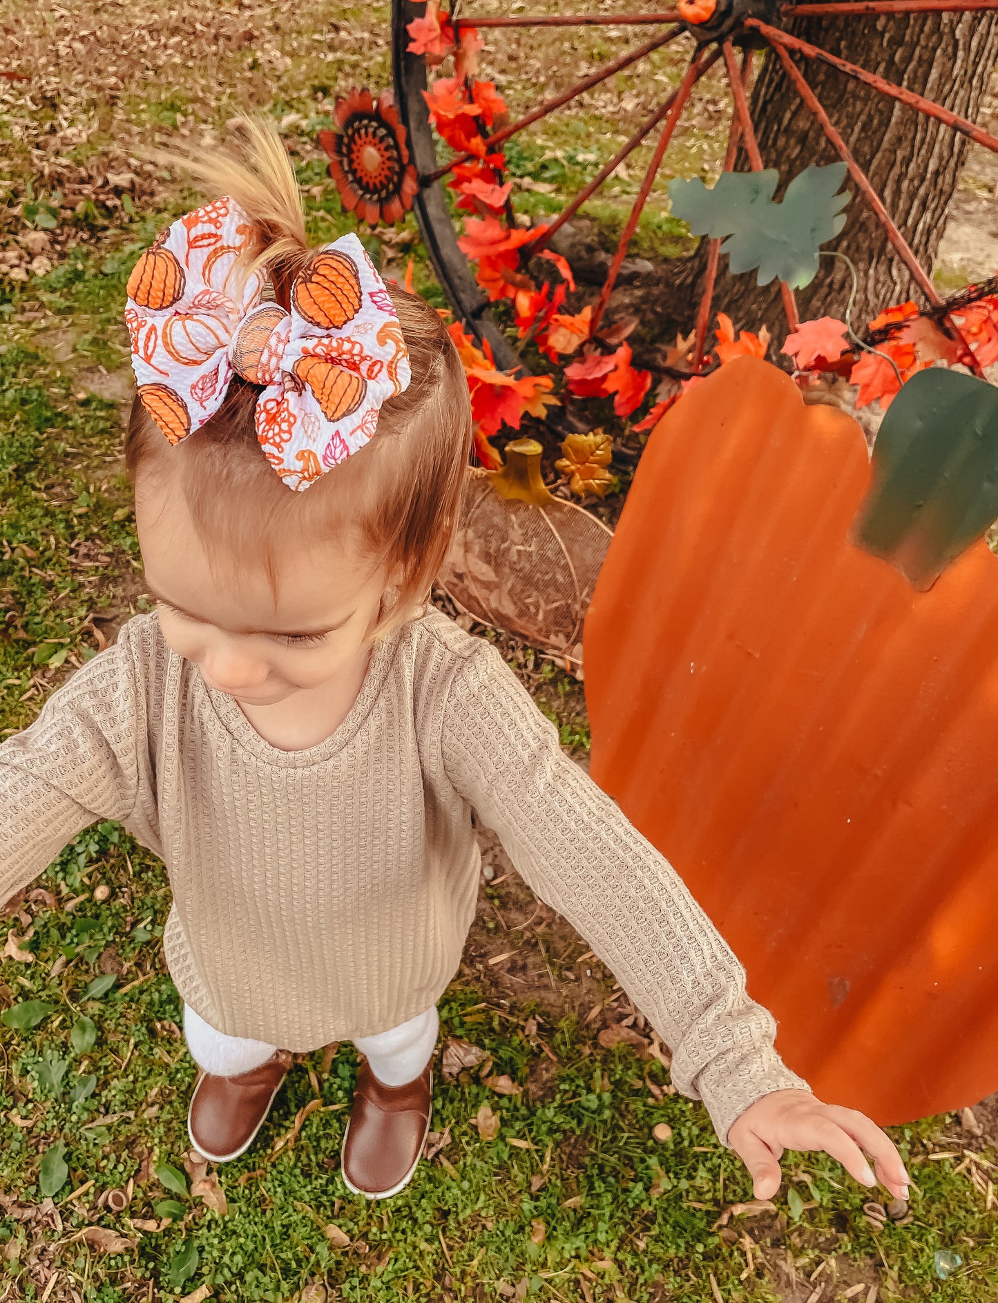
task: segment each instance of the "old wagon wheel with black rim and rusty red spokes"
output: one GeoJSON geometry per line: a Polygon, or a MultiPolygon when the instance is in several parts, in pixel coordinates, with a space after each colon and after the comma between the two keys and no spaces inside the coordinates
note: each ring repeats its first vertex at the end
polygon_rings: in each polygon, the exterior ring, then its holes
{"type": "MultiPolygon", "coordinates": [[[[532,26],[550,27],[612,25],[615,27],[633,26],[642,36],[641,46],[623,56],[623,60],[611,60],[602,69],[598,69],[597,72],[599,76],[584,78],[582,82],[577,83],[568,93],[555,96],[551,100],[543,100],[538,109],[532,111],[517,121],[492,133],[489,139],[496,147],[504,145],[520,130],[526,129],[549,112],[556,112],[559,107],[572,103],[572,100],[577,99],[578,95],[588,89],[586,83],[594,85],[598,81],[603,81],[606,76],[608,76],[606,69],[612,72],[614,65],[620,65],[621,63],[624,65],[633,64],[650,53],[654,48],[658,48],[667,40],[674,39],[675,35],[692,34],[696,38],[696,51],[687,64],[687,72],[677,90],[655,108],[651,116],[638,128],[638,130],[634,132],[631,139],[625,142],[614,158],[606,163],[603,168],[601,168],[597,176],[593,177],[584,186],[584,189],[576,194],[575,198],[565,203],[563,211],[551,220],[547,233],[542,238],[530,242],[524,253],[534,255],[543,248],[550,246],[550,240],[560,225],[563,225],[571,215],[577,212],[578,208],[599,190],[605,181],[615,173],[631,152],[646,138],[651,137],[654,139],[654,133],[657,130],[661,133],[658,136],[658,146],[654,151],[651,165],[646,171],[646,184],[642,186],[642,190],[638,192],[638,198],[634,203],[634,208],[632,210],[631,220],[624,229],[624,236],[620,240],[606,281],[594,305],[590,337],[595,337],[598,341],[598,330],[603,311],[616,285],[620,266],[623,265],[627,254],[629,238],[637,227],[641,210],[648,199],[648,194],[650,193],[658,168],[668,151],[672,132],[680,121],[687,100],[689,99],[697,82],[714,64],[720,64],[723,68],[735,106],[728,147],[724,159],[724,169],[732,169],[739,143],[743,143],[747,149],[752,168],[754,171],[762,169],[762,160],[758,152],[758,146],[756,145],[754,129],[748,107],[748,86],[750,73],[748,50],[762,47],[770,51],[771,57],[779,60],[783,65],[787,77],[791,79],[791,85],[799,95],[799,102],[817,119],[826,139],[833,146],[833,150],[843,162],[846,162],[852,181],[861,194],[863,201],[870,205],[877,220],[886,232],[894,253],[904,262],[912,280],[917,285],[920,294],[929,305],[928,315],[932,315],[937,319],[937,322],[943,323],[947,334],[965,345],[967,365],[969,365],[971,369],[978,375],[982,374],[981,366],[976,362],[973,349],[964,339],[959,323],[954,321],[950,314],[948,305],[943,302],[941,296],[937,293],[932,280],[920,266],[898,225],[892,222],[885,206],[879,203],[878,197],[863,168],[849,155],[844,141],[836,132],[829,115],[825,112],[823,106],[808,85],[806,69],[817,63],[836,68],[844,77],[852,78],[855,82],[864,82],[866,86],[877,90],[881,95],[887,95],[919,113],[934,117],[937,121],[943,122],[946,126],[962,133],[972,141],[976,141],[978,145],[985,146],[995,154],[998,154],[998,138],[943,106],[935,104],[926,96],[909,91],[903,86],[895,86],[873,73],[868,73],[863,68],[849,64],[847,60],[836,56],[833,51],[822,50],[797,38],[786,30],[786,23],[791,18],[805,16],[847,14],[861,20],[864,17],[872,18],[881,14],[929,14],[946,12],[985,13],[998,10],[998,0],[831,0],[829,4],[782,4],[779,0],[717,0],[713,13],[710,13],[706,18],[702,18],[701,21],[692,21],[683,17],[680,9],[684,13],[688,13],[691,12],[691,5],[696,7],[697,4],[710,8],[711,0],[680,0],[679,9],[663,8],[654,12],[610,16],[555,14],[532,17],[526,14],[513,17],[476,17],[474,13],[470,12],[466,14],[461,12],[457,16],[455,20],[455,29],[459,34],[465,27],[481,27],[486,31],[487,29],[529,29],[532,26]],[[664,36],[653,36],[650,40],[644,39],[649,35],[649,30],[655,33],[664,31],[666,34],[664,36]],[[736,51],[739,50],[744,51],[741,66],[739,66],[739,61],[736,59],[736,51]],[[801,65],[804,68],[803,72],[801,65]]],[[[624,7],[631,8],[629,5],[624,7]]],[[[637,9],[638,7],[634,5],[633,8],[637,9]]],[[[525,360],[517,353],[516,348],[511,345],[503,328],[495,321],[489,300],[477,284],[476,275],[468,258],[459,248],[457,233],[453,229],[451,212],[443,194],[443,185],[452,173],[455,165],[460,165],[463,159],[466,160],[470,155],[457,154],[444,162],[440,162],[436,155],[430,115],[422,96],[422,91],[427,87],[426,64],[422,56],[414,55],[409,51],[410,36],[406,31],[408,25],[412,23],[413,20],[421,17],[425,12],[426,7],[423,0],[421,0],[420,4],[414,4],[412,0],[395,0],[393,3],[392,52],[395,85],[399,90],[399,113],[409,132],[416,171],[420,177],[420,192],[413,206],[416,208],[416,215],[434,271],[436,272],[436,276],[440,280],[451,305],[453,306],[457,319],[465,326],[466,330],[477,336],[478,340],[487,341],[499,367],[504,370],[524,367],[528,364],[525,364],[525,360]]],[[[705,341],[711,318],[719,244],[720,241],[707,241],[707,267],[704,292],[696,314],[696,341],[692,354],[693,371],[697,373],[702,370],[705,361],[705,341]]],[[[525,266],[525,263],[526,257],[522,257],[521,266],[525,266]]],[[[981,296],[991,289],[991,285],[984,285],[981,288],[981,296]]],[[[967,296],[962,296],[962,306],[965,306],[967,296]]],[[[787,287],[783,287],[783,302],[787,322],[791,331],[793,331],[799,324],[799,318],[792,291],[787,287]]],[[[666,374],[672,373],[667,371],[666,374]]]]}

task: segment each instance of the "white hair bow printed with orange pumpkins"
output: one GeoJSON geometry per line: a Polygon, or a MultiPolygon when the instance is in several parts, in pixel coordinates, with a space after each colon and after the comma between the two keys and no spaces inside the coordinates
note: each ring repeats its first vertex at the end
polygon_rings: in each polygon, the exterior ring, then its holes
{"type": "Polygon", "coordinates": [[[171,443],[218,412],[233,371],[262,386],[257,438],[284,483],[302,490],[367,443],[382,403],[409,384],[409,354],[357,236],[314,255],[285,311],[263,298],[263,276],[236,267],[250,233],[229,198],[160,233],[128,281],[132,367],[171,443]]]}

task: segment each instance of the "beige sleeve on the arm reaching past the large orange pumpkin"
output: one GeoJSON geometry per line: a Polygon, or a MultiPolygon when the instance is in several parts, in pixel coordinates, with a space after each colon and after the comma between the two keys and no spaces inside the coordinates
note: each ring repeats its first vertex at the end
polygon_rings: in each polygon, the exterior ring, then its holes
{"type": "Polygon", "coordinates": [[[442,745],[455,790],[616,975],[671,1048],[675,1085],[704,1100],[723,1143],[756,1100],[806,1088],[679,876],[564,754],[554,724],[487,642],[455,675],[442,745]]]}

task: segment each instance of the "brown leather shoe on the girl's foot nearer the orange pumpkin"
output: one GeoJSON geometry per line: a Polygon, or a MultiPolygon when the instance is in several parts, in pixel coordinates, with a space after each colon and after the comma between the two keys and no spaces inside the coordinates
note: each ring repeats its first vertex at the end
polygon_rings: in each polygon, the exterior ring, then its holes
{"type": "Polygon", "coordinates": [[[343,1138],[343,1179],[366,1199],[388,1199],[408,1186],[420,1162],[433,1110],[433,1072],[408,1085],[382,1085],[366,1062],[357,1074],[343,1138]]]}

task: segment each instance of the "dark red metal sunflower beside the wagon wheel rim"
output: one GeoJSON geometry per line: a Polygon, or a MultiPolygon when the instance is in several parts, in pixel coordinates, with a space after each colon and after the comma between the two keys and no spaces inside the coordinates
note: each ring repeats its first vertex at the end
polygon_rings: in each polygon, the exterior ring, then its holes
{"type": "Polygon", "coordinates": [[[375,103],[369,90],[354,86],[336,100],[334,120],[339,130],[318,136],[344,208],[373,227],[400,222],[420,182],[392,93],[382,91],[375,103]]]}

